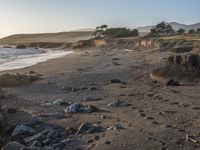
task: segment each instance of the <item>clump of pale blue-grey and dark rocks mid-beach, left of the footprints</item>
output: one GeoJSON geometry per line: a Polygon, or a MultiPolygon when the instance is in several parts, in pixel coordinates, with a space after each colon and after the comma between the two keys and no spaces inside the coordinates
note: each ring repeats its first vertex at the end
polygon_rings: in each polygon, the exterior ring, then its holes
{"type": "Polygon", "coordinates": [[[64,109],[65,113],[74,114],[74,113],[91,113],[99,111],[99,109],[93,105],[82,105],[80,103],[73,103],[64,109]]]}

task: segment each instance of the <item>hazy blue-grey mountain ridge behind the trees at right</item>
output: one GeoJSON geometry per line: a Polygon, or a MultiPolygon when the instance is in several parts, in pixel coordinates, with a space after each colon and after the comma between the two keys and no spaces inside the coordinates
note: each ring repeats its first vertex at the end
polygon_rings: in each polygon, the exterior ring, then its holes
{"type": "MultiPolygon", "coordinates": [[[[177,22],[170,22],[170,25],[175,29],[178,30],[180,28],[185,29],[186,31],[190,30],[190,29],[197,29],[200,28],[200,23],[196,23],[196,24],[192,24],[192,25],[186,25],[186,24],[180,24],[177,22]]],[[[139,27],[137,28],[140,32],[143,33],[147,33],[150,32],[150,30],[152,28],[154,28],[155,26],[145,26],[145,27],[139,27]]]]}

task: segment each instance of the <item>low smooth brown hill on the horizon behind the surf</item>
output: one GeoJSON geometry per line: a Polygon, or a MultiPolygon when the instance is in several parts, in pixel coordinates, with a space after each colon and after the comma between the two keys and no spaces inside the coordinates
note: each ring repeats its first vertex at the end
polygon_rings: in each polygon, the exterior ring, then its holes
{"type": "Polygon", "coordinates": [[[15,34],[0,39],[0,44],[20,44],[34,42],[76,42],[79,40],[87,40],[92,37],[93,31],[71,31],[59,33],[42,33],[42,34],[15,34]]]}

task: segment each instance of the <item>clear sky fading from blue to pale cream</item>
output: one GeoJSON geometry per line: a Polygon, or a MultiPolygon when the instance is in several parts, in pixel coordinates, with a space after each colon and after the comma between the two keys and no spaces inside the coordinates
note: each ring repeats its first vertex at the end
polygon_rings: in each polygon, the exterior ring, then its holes
{"type": "Polygon", "coordinates": [[[136,28],[163,20],[200,22],[200,0],[0,0],[0,37],[101,24],[136,28]]]}

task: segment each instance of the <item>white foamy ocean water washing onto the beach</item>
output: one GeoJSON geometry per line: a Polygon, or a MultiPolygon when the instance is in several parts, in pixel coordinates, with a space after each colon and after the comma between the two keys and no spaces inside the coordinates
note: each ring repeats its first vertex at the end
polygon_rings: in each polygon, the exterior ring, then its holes
{"type": "Polygon", "coordinates": [[[73,51],[47,49],[0,48],[0,71],[20,69],[33,66],[39,62],[66,56],[73,51]]]}

